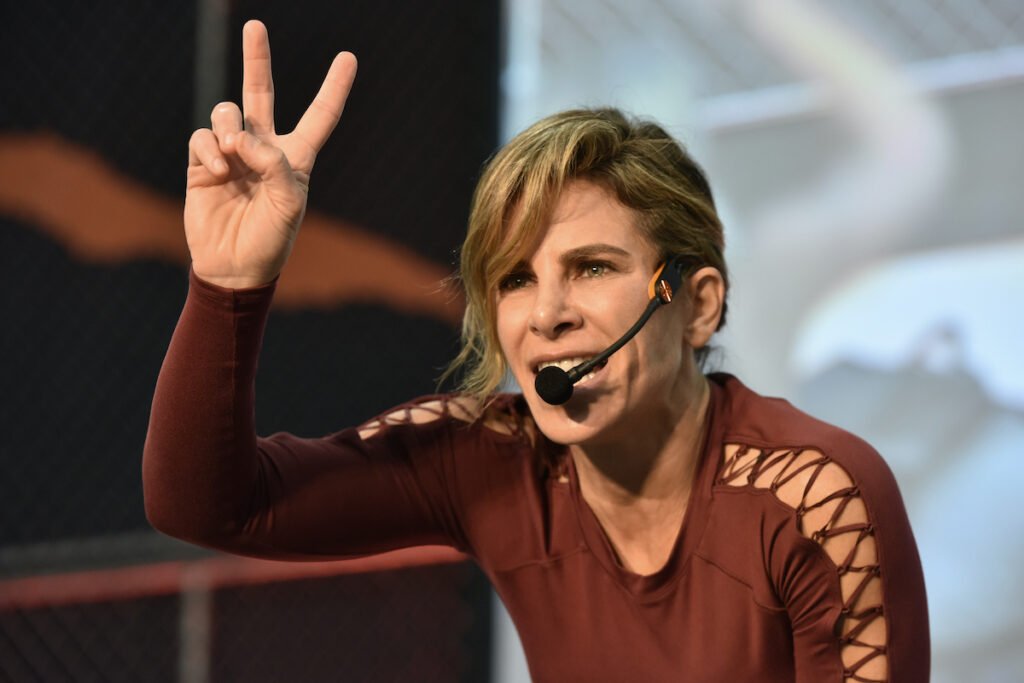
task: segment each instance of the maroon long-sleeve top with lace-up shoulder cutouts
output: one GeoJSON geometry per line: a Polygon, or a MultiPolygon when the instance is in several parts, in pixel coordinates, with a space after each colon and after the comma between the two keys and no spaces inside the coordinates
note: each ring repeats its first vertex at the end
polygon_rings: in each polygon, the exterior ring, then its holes
{"type": "Polygon", "coordinates": [[[157,528],[278,559],[451,545],[494,583],[536,681],[928,680],[916,547],[889,468],[857,437],[711,376],[682,528],[638,575],[521,397],[477,420],[435,396],[323,438],[258,438],[271,296],[191,279],[143,459],[157,528]]]}

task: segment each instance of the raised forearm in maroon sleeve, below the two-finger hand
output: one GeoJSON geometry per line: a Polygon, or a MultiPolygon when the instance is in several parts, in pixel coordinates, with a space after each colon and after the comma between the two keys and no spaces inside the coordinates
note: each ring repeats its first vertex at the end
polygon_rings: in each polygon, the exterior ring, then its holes
{"type": "Polygon", "coordinates": [[[218,545],[258,484],[255,375],[273,285],[231,292],[189,278],[150,417],[145,511],[165,533],[218,545]]]}

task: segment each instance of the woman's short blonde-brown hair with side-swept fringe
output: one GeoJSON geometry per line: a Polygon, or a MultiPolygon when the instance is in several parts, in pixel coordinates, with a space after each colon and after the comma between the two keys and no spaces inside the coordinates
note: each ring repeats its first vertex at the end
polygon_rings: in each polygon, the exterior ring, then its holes
{"type": "MultiPolygon", "coordinates": [[[[632,209],[638,229],[660,257],[680,255],[693,269],[718,268],[728,290],[711,185],[680,142],[656,123],[616,109],[549,116],[487,162],[473,195],[460,253],[466,295],[462,349],[442,376],[458,373],[463,392],[485,398],[501,385],[508,368],[498,341],[499,285],[537,244],[562,189],[573,180],[594,182],[632,209]]],[[[719,328],[724,323],[723,305],[719,328]]],[[[698,362],[707,351],[696,350],[698,362]]]]}

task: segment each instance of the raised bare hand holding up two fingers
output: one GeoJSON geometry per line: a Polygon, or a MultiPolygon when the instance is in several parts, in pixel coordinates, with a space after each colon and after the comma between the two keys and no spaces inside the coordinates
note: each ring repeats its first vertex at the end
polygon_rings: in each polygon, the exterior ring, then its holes
{"type": "Polygon", "coordinates": [[[242,30],[242,110],[221,102],[188,142],[185,239],[193,270],[228,288],[278,276],[306,209],[316,154],[341,118],[355,78],[355,57],[334,58],[319,92],[291,133],[273,124],[273,79],[266,27],[242,30]]]}

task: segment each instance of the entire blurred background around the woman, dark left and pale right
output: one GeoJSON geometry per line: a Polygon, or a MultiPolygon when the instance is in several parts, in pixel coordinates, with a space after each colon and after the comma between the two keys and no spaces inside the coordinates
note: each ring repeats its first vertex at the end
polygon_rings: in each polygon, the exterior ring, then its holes
{"type": "Polygon", "coordinates": [[[714,369],[886,457],[933,680],[1024,680],[1018,0],[6,4],[0,680],[528,680],[485,582],[441,549],[279,565],[147,530],[186,141],[238,98],[249,17],[280,128],[337,49],[360,60],[272,313],[261,432],[432,391],[459,312],[436,283],[480,165],[541,116],[621,106],[712,179],[733,279],[714,369]]]}

